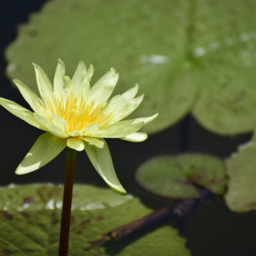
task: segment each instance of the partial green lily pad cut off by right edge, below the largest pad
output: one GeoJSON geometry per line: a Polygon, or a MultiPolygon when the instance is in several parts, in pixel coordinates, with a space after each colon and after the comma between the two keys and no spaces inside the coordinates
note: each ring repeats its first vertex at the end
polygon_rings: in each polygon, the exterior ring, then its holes
{"type": "Polygon", "coordinates": [[[256,207],[256,138],[240,146],[226,160],[229,176],[226,203],[234,212],[246,212],[256,207]]]}

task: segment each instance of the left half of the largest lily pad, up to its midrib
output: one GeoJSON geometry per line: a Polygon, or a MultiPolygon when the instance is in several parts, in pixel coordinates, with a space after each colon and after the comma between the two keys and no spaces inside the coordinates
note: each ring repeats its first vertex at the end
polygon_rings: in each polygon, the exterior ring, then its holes
{"type": "Polygon", "coordinates": [[[145,93],[131,118],[159,112],[145,129],[162,130],[189,112],[197,91],[184,52],[186,2],[49,1],[31,15],[30,23],[20,26],[17,40],[8,47],[8,76],[37,90],[31,62],[52,79],[58,58],[69,76],[83,60],[95,67],[92,84],[115,67],[120,73],[116,94],[135,83],[139,94],[145,93]]]}

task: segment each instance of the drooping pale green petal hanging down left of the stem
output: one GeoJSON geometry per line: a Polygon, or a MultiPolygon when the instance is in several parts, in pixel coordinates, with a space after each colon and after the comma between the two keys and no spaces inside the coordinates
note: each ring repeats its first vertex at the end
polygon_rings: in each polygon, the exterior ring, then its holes
{"type": "Polygon", "coordinates": [[[66,139],[60,139],[51,133],[43,133],[33,144],[26,157],[15,170],[17,175],[31,173],[53,160],[66,146],[66,139]]]}

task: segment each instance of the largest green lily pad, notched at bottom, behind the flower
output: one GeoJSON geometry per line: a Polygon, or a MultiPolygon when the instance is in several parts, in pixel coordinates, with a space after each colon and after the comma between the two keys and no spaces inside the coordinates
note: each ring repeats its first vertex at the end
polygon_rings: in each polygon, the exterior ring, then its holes
{"type": "Polygon", "coordinates": [[[54,0],[19,28],[8,47],[7,73],[36,89],[31,62],[52,78],[57,58],[72,74],[94,64],[94,81],[110,67],[116,93],[141,85],[133,117],[159,112],[147,132],[171,126],[189,111],[223,135],[256,127],[254,0],[54,0]]]}

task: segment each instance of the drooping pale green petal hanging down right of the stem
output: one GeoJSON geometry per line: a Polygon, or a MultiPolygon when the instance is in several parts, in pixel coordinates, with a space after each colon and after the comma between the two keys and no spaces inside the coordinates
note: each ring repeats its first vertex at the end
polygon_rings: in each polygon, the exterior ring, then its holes
{"type": "Polygon", "coordinates": [[[98,171],[101,178],[105,180],[107,185],[119,194],[126,194],[126,191],[115,174],[115,169],[107,142],[103,139],[102,141],[105,145],[101,149],[85,143],[85,151],[90,159],[90,162],[92,162],[92,165],[96,171],[98,171]]]}

